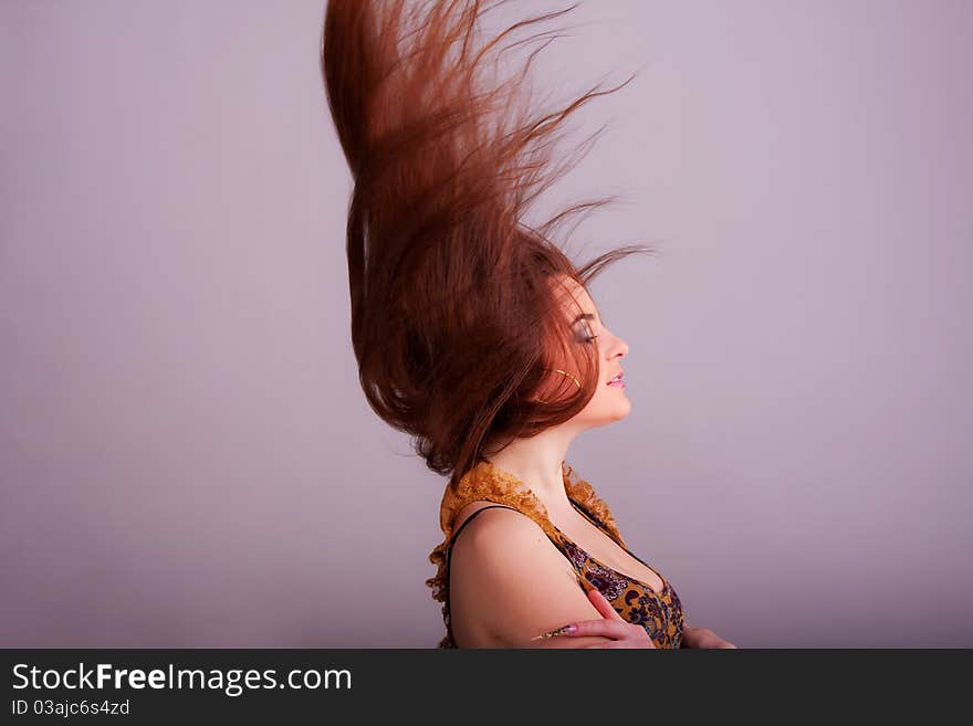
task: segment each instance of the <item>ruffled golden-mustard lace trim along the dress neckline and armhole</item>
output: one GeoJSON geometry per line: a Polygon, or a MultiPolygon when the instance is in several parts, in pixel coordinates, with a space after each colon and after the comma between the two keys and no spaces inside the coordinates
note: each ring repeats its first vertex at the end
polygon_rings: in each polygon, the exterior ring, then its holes
{"type": "MultiPolygon", "coordinates": [[[[604,523],[618,543],[626,547],[621,533],[615,524],[615,517],[611,516],[608,505],[595,493],[594,487],[580,478],[574,469],[565,462],[562,462],[561,471],[567,495],[604,523]]],[[[447,634],[440,641],[439,648],[449,648],[452,644],[449,636],[449,612],[446,603],[446,555],[453,536],[453,524],[457,514],[463,507],[480,501],[511,506],[533,519],[554,541],[563,541],[562,535],[547,516],[547,508],[536,495],[516,476],[498,469],[490,462],[480,462],[467,472],[460,480],[456,492],[447,485],[439,507],[439,526],[444,539],[429,554],[429,561],[436,565],[437,570],[433,577],[426,580],[426,585],[432,588],[432,599],[443,603],[442,618],[447,624],[447,634]]],[[[578,576],[578,581],[582,582],[580,576],[578,576]]],[[[582,587],[588,589],[584,582],[582,582],[582,587]]]]}

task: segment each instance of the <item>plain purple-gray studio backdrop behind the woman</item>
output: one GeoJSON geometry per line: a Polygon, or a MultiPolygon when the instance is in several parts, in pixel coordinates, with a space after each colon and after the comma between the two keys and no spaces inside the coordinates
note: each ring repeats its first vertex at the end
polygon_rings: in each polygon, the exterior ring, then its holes
{"type": "MultiPolygon", "coordinates": [[[[516,2],[520,13],[566,2],[516,2]]],[[[348,332],[322,0],[0,3],[0,645],[431,648],[444,480],[348,332]]],[[[508,12],[508,15],[510,13],[508,12]]],[[[973,3],[588,2],[538,212],[631,414],[568,461],[741,648],[973,646],[973,3]]]]}

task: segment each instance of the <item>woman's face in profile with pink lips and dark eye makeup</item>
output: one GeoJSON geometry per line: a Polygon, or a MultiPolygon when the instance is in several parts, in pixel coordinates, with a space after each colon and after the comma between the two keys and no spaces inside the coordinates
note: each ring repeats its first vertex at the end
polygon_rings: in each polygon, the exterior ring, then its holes
{"type": "MultiPolygon", "coordinates": [[[[625,393],[624,382],[609,385],[609,381],[621,371],[621,358],[628,354],[628,344],[605,327],[598,308],[583,285],[571,277],[561,277],[559,282],[558,291],[563,291],[565,295],[565,319],[571,326],[572,335],[578,345],[595,346],[600,368],[600,380],[595,394],[571,419],[571,423],[592,429],[624,419],[631,411],[631,401],[625,393]]],[[[556,368],[573,376],[578,375],[578,371],[571,369],[571,364],[562,362],[556,368]]],[[[547,371],[541,398],[548,399],[558,394],[557,391],[563,396],[565,383],[575,388],[569,377],[547,371]]]]}

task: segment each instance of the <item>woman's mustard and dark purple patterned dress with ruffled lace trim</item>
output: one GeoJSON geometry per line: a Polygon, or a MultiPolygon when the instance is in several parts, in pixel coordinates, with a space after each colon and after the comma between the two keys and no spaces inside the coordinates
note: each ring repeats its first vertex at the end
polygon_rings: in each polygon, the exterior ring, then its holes
{"type": "Polygon", "coordinates": [[[489,462],[480,462],[463,475],[456,491],[446,487],[439,512],[440,528],[446,538],[429,555],[429,560],[437,565],[437,574],[426,580],[426,585],[432,588],[432,599],[443,603],[442,621],[446,625],[446,635],[439,642],[439,648],[457,648],[452,639],[449,614],[449,557],[452,543],[477,514],[492,506],[474,512],[456,532],[452,532],[453,522],[463,507],[479,501],[494,502],[516,509],[533,519],[572,564],[580,588],[585,591],[597,588],[625,620],[646,629],[656,648],[676,649],[682,645],[684,613],[671,582],[628,549],[611,512],[595,494],[590,484],[578,478],[574,470],[564,462],[562,462],[562,473],[572,506],[626,553],[656,572],[662,582],[661,590],[656,592],[647,582],[627,577],[595,559],[554,526],[547,517],[543,503],[520,480],[489,462]]]}

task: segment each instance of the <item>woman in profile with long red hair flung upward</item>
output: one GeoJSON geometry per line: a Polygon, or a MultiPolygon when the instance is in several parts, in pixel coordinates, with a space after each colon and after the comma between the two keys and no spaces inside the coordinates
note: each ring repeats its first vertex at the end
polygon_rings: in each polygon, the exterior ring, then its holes
{"type": "Polygon", "coordinates": [[[686,624],[671,583],[628,550],[605,502],[565,461],[576,435],[631,408],[615,380],[628,348],[588,285],[651,249],[619,248],[582,266],[562,252],[555,232],[606,199],[525,222],[573,166],[551,165],[571,113],[628,81],[534,112],[521,90],[536,51],[506,80],[496,80],[499,62],[551,42],[551,32],[516,34],[571,8],[479,42],[484,19],[505,4],[331,0],[322,42],[354,179],[346,249],[363,390],[449,477],[446,538],[427,580],[443,602],[439,644],[734,648],[686,624]],[[559,629],[567,623],[576,628],[559,629]]]}

